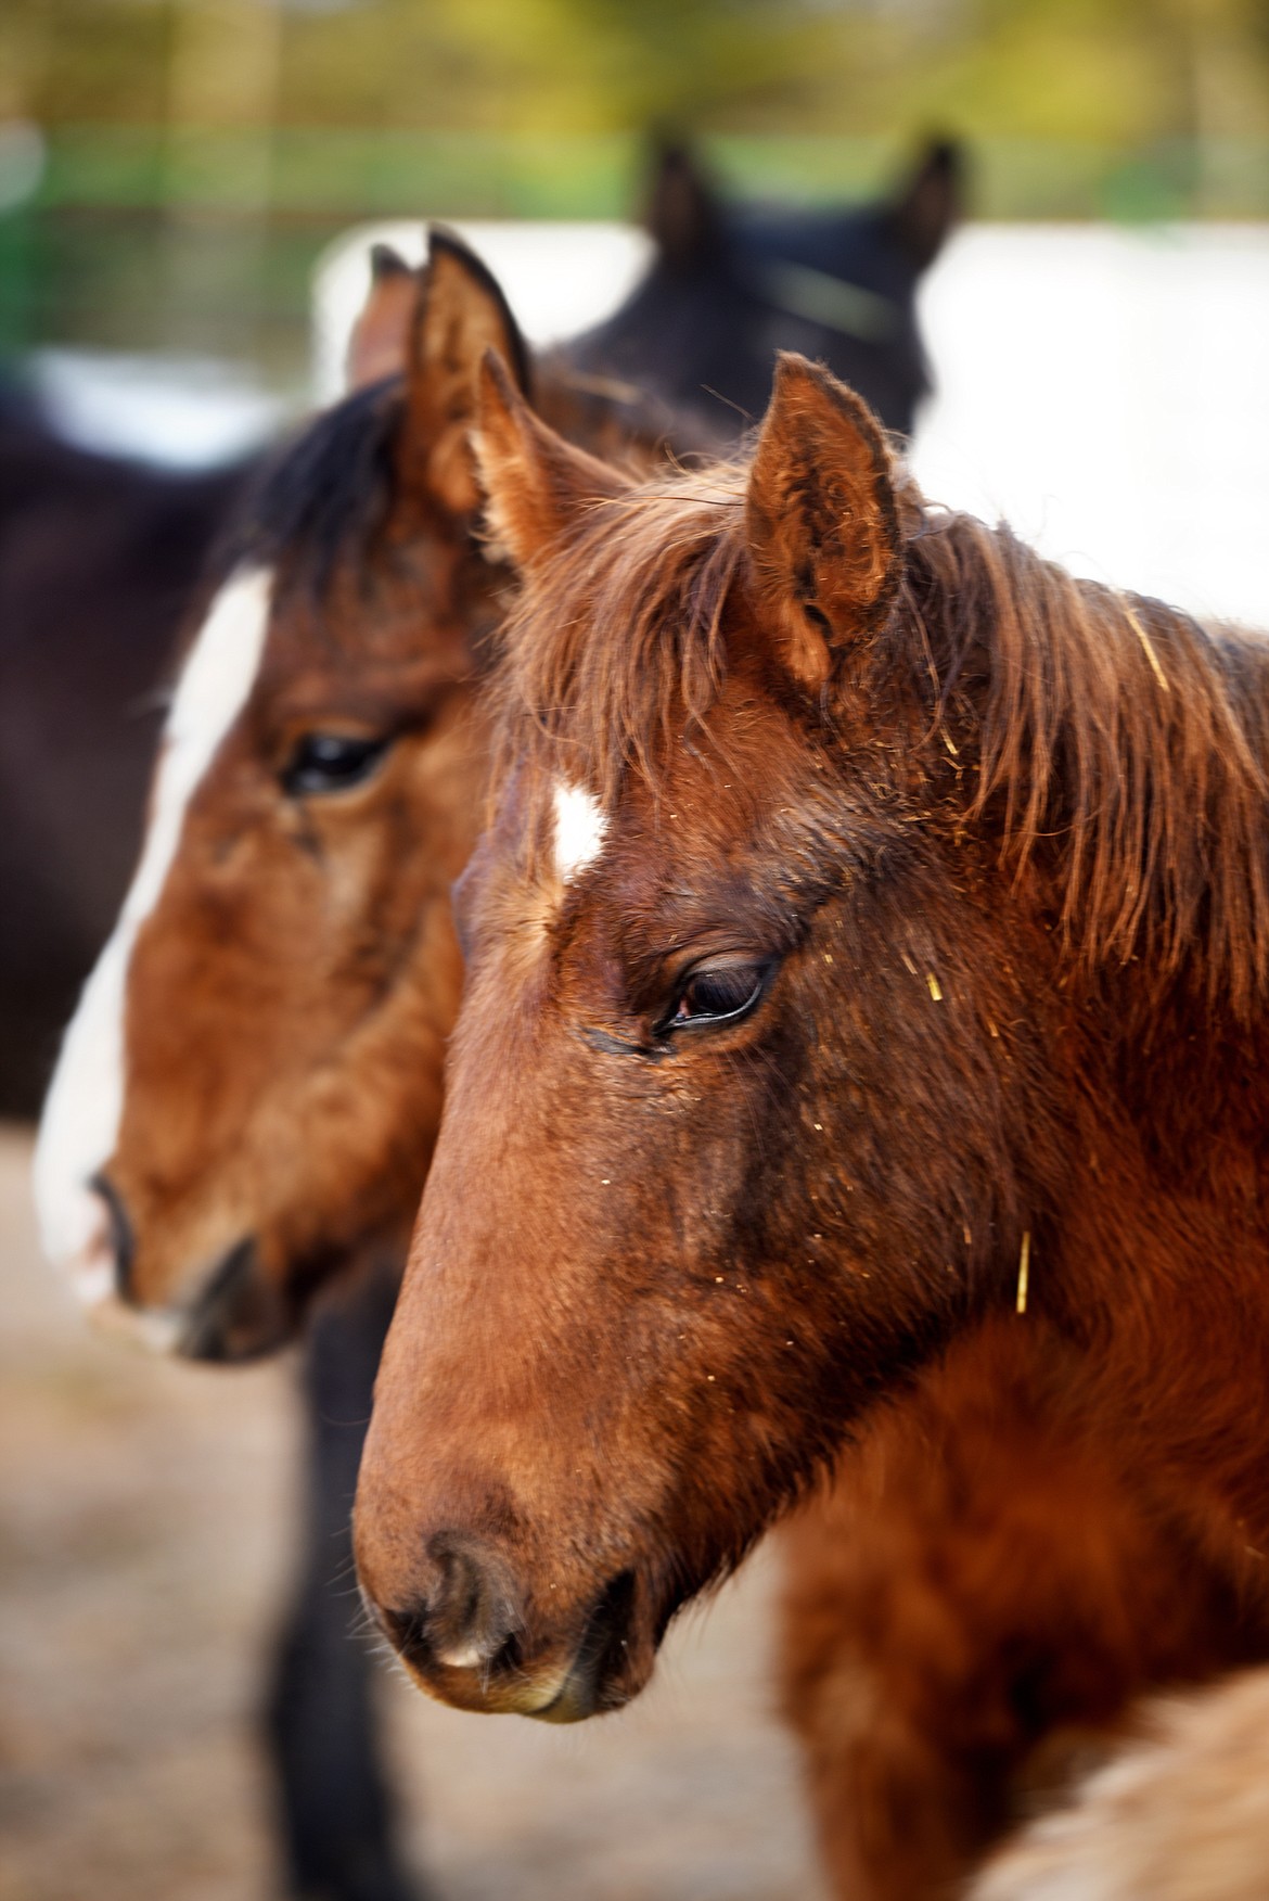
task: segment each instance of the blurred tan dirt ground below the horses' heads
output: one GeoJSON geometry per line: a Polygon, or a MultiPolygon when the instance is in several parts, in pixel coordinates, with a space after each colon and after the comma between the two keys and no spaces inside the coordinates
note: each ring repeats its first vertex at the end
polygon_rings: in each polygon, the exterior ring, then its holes
{"type": "MultiPolygon", "coordinates": [[[[0,1901],[268,1901],[255,1717],[291,1561],[291,1369],[93,1338],[0,1131],[0,1901]]],[[[819,1901],[771,1715],[771,1557],[578,1730],[388,1679],[420,1869],[448,1901],[819,1901]]],[[[350,1618],[353,1604],[350,1601],[350,1618]]]]}

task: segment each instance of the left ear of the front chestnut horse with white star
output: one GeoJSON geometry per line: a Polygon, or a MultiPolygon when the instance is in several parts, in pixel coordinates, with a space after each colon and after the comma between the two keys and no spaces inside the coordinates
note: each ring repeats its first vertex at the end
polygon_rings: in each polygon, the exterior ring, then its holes
{"type": "Polygon", "coordinates": [[[589,502],[623,494],[619,470],[574,449],[536,416],[496,352],[481,365],[479,422],[473,435],[486,494],[492,551],[517,568],[534,565],[589,502]]]}

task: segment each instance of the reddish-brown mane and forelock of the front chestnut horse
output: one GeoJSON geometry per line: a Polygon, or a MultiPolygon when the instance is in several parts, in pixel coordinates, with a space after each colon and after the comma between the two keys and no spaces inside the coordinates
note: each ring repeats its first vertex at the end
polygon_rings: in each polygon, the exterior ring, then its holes
{"type": "MultiPolygon", "coordinates": [[[[1153,1000],[1187,968],[1246,1017],[1269,975],[1269,648],[1161,601],[1077,580],[1005,525],[929,504],[895,466],[904,570],[834,692],[908,677],[931,802],[999,831],[1018,874],[1045,855],[1071,952],[1142,958],[1153,1000]]],[[[502,755],[566,751],[612,808],[653,785],[676,722],[701,745],[745,586],[745,462],[598,500],[530,566],[503,629],[502,755]]],[[[559,758],[557,758],[559,764],[559,758]]]]}

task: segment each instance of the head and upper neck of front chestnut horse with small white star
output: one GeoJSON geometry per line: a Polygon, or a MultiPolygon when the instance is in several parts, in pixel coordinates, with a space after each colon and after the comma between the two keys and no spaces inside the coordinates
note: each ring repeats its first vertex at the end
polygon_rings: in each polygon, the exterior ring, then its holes
{"type": "Polygon", "coordinates": [[[1028,1276],[1077,1340],[1229,1222],[1265,1279],[1269,656],[925,506],[802,359],[636,487],[488,374],[522,597],[357,1555],[426,1688],[564,1720],[1028,1276]]]}

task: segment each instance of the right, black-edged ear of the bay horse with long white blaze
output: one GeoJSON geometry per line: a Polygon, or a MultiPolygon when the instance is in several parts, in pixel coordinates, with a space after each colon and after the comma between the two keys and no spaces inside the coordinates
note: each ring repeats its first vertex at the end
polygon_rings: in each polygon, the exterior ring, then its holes
{"type": "Polygon", "coordinates": [[[471,430],[486,350],[528,395],[528,348],[502,287],[462,238],[433,224],[408,340],[399,468],[407,487],[422,487],[452,515],[481,506],[471,430]]]}

